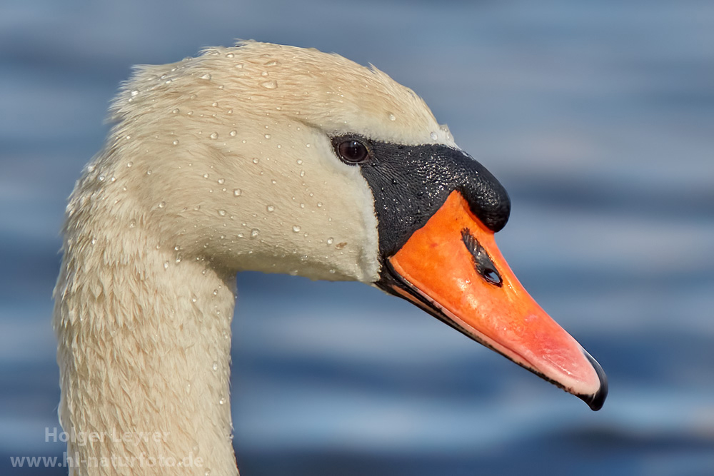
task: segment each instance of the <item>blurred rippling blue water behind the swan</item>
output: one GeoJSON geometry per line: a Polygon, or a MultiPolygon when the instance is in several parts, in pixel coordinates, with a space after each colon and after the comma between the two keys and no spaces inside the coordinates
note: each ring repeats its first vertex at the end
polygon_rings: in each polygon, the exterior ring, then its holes
{"type": "Polygon", "coordinates": [[[58,230],[116,86],[235,37],[420,93],[511,193],[503,254],[610,378],[592,413],[376,290],[246,273],[243,474],[714,474],[714,4],[663,0],[5,1],[0,467],[61,455],[58,230]]]}

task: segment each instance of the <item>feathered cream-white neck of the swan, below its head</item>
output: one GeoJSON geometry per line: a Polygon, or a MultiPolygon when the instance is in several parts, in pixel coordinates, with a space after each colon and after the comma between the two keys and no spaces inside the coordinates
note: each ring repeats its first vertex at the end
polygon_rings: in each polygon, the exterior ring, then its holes
{"type": "Polygon", "coordinates": [[[70,474],[237,475],[234,275],[143,231],[69,225],[54,326],[70,474]]]}

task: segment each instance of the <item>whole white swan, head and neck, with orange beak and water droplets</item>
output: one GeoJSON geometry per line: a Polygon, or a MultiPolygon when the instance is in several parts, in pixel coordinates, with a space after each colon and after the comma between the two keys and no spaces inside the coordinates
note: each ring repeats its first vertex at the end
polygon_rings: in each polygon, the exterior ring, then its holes
{"type": "Polygon", "coordinates": [[[240,270],[411,301],[598,410],[597,362],[508,268],[506,191],[411,89],[243,41],[139,66],[66,208],[54,291],[72,475],[236,475],[240,270]]]}

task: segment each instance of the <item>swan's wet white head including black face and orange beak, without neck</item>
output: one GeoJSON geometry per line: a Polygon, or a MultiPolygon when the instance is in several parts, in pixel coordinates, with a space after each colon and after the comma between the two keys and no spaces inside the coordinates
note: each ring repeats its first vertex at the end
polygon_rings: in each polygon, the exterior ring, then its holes
{"type": "Polygon", "coordinates": [[[70,216],[94,196],[177,261],[376,285],[602,405],[600,366],[496,247],[503,186],[378,69],[243,42],[140,66],[111,118],[70,216]]]}

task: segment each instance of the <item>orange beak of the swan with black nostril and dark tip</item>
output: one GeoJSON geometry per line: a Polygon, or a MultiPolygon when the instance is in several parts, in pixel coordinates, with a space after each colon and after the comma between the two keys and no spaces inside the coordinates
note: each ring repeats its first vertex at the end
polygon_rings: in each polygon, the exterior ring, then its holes
{"type": "Polygon", "coordinates": [[[531,298],[461,193],[388,258],[391,292],[600,410],[600,365],[531,298]]]}

